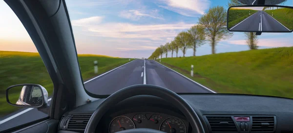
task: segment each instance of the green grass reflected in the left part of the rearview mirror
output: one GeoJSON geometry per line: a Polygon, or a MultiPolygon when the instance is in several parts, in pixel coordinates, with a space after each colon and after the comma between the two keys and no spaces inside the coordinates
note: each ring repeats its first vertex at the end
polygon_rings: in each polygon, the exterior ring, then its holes
{"type": "Polygon", "coordinates": [[[236,24],[243,21],[245,18],[250,17],[249,12],[251,12],[251,15],[253,15],[257,11],[249,9],[230,8],[228,16],[228,28],[230,29],[236,24]]]}

